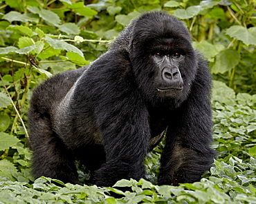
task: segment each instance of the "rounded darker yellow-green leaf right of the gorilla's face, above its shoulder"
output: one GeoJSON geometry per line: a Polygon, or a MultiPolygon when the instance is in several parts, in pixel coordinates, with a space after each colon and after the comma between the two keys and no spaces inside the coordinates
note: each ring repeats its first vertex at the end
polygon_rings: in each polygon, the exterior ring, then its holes
{"type": "Polygon", "coordinates": [[[240,54],[237,52],[237,50],[222,50],[217,54],[216,61],[214,65],[212,65],[212,73],[225,73],[232,68],[235,68],[235,66],[240,61],[240,54]]]}

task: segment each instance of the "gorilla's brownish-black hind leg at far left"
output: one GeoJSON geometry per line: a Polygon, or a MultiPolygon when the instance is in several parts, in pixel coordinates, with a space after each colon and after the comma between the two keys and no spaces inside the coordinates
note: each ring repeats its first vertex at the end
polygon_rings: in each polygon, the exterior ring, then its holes
{"type": "Polygon", "coordinates": [[[73,156],[51,130],[50,120],[41,116],[31,123],[34,175],[59,179],[64,183],[78,183],[73,156]]]}

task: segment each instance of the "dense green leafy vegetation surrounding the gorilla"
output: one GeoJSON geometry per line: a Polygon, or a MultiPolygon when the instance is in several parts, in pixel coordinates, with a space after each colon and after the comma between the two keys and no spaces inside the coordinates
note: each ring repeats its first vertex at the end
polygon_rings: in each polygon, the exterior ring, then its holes
{"type": "MultiPolygon", "coordinates": [[[[0,203],[256,203],[255,6],[255,0],[1,1],[0,203]],[[33,88],[52,74],[89,64],[131,19],[149,10],[183,20],[194,47],[210,61],[212,145],[219,152],[214,167],[201,182],[157,186],[161,143],[145,161],[148,181],[116,183],[132,192],[34,181],[26,116],[33,88]]],[[[89,172],[79,163],[77,169],[86,183],[89,172]]]]}

